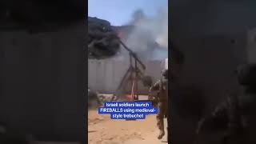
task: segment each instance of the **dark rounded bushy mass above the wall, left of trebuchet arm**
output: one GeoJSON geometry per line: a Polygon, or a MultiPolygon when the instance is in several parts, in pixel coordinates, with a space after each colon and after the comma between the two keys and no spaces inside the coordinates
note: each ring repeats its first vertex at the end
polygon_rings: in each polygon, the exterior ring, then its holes
{"type": "Polygon", "coordinates": [[[88,18],[88,57],[110,58],[118,53],[117,34],[110,22],[98,18],[88,18]]]}

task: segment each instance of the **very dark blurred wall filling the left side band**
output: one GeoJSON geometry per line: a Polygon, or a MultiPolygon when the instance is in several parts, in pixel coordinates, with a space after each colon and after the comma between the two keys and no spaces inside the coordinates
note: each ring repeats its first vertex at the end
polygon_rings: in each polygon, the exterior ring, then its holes
{"type": "Polygon", "coordinates": [[[0,121],[43,141],[82,141],[84,24],[0,33],[0,121]]]}

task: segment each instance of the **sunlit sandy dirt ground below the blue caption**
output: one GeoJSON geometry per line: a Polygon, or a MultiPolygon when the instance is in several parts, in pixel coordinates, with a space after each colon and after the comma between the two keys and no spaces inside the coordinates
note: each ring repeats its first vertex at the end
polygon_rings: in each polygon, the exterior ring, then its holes
{"type": "MultiPolygon", "coordinates": [[[[166,121],[165,121],[166,126],[166,121]]],[[[111,120],[110,114],[88,112],[89,144],[163,144],[166,136],[158,140],[156,115],[147,115],[144,120],[111,120]]],[[[166,132],[167,135],[167,132],[166,132]]]]}

